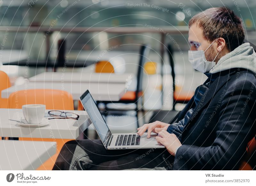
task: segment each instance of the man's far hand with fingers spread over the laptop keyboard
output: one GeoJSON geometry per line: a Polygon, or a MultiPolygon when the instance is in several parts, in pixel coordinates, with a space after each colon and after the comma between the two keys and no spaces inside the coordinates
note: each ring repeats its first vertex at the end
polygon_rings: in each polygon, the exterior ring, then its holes
{"type": "Polygon", "coordinates": [[[161,121],[155,121],[153,123],[144,124],[142,127],[137,128],[137,130],[138,130],[137,134],[142,136],[143,133],[148,129],[147,138],[149,138],[151,132],[158,133],[161,130],[166,131],[169,126],[170,126],[170,124],[168,124],[168,123],[163,123],[161,121]]]}

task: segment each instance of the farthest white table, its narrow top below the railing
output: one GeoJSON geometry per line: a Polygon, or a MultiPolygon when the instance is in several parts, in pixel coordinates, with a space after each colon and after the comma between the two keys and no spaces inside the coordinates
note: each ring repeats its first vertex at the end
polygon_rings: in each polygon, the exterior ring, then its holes
{"type": "Polygon", "coordinates": [[[45,72],[29,78],[36,82],[79,82],[79,83],[128,83],[134,74],[88,73],[88,72],[45,72]]]}

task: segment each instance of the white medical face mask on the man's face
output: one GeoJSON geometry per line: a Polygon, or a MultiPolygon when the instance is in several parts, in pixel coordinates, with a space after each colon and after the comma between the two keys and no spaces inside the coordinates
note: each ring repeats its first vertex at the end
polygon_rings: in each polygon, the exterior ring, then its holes
{"type": "MultiPolygon", "coordinates": [[[[215,39],[212,43],[214,43],[217,39],[215,39]]],[[[210,48],[212,43],[208,46],[206,50],[210,48]]],[[[205,51],[206,51],[205,50],[205,51]]],[[[213,66],[216,65],[214,60],[217,58],[220,52],[218,52],[217,56],[213,59],[213,61],[207,61],[204,55],[204,50],[188,50],[188,60],[193,65],[194,69],[199,72],[206,73],[209,72],[213,66]]]]}

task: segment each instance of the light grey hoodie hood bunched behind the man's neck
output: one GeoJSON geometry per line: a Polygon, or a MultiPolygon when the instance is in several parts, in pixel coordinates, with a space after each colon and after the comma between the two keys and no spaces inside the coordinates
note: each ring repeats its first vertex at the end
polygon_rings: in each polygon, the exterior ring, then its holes
{"type": "Polygon", "coordinates": [[[209,73],[214,74],[232,68],[244,68],[256,74],[256,53],[250,43],[243,43],[221,57],[209,73]]]}

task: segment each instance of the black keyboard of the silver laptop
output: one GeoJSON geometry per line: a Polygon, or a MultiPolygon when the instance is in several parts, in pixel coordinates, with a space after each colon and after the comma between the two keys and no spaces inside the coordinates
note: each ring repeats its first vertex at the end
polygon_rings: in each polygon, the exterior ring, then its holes
{"type": "Polygon", "coordinates": [[[118,135],[115,146],[140,145],[140,136],[135,134],[118,135]]]}

